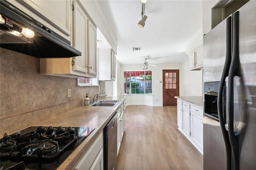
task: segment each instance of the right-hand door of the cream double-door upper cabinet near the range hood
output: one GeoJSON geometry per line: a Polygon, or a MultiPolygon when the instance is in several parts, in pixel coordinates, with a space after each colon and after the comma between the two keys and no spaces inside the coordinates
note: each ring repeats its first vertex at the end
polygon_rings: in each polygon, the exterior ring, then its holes
{"type": "Polygon", "coordinates": [[[97,31],[96,27],[89,20],[88,28],[88,73],[97,75],[97,31]]]}

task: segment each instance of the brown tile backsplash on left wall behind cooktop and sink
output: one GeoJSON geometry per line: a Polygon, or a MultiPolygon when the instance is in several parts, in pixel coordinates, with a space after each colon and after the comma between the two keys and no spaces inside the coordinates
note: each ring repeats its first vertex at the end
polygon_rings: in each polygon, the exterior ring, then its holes
{"type": "MultiPolygon", "coordinates": [[[[83,105],[98,87],[77,87],[76,79],[41,75],[40,59],[0,48],[0,136],[83,105]],[[71,97],[67,97],[71,89],[71,97]]],[[[103,93],[105,82],[100,81],[103,93]]]]}

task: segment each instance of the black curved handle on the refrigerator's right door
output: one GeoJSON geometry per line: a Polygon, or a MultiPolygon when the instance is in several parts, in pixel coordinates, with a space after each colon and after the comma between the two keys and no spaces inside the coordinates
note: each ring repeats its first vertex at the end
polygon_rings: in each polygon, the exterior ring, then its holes
{"type": "Polygon", "coordinates": [[[239,65],[239,11],[233,15],[233,50],[228,73],[228,135],[232,149],[233,170],[239,170],[238,136],[234,133],[234,76],[238,75],[239,65]]]}

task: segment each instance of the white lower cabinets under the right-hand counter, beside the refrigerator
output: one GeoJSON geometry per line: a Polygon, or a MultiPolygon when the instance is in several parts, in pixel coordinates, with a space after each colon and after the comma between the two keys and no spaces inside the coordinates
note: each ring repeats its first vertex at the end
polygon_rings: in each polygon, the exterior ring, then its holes
{"type": "Polygon", "coordinates": [[[203,154],[203,108],[178,99],[177,124],[180,132],[203,154]]]}

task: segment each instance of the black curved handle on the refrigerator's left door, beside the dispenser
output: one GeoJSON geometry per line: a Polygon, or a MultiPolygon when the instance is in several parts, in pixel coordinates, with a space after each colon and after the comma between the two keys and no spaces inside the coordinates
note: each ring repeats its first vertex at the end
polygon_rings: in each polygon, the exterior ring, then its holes
{"type": "Polygon", "coordinates": [[[225,128],[226,124],[226,101],[225,101],[225,80],[226,77],[228,77],[228,70],[230,68],[230,62],[231,62],[231,37],[232,37],[232,17],[228,17],[226,20],[226,59],[224,63],[224,68],[222,71],[221,79],[220,79],[220,87],[218,89],[218,100],[217,100],[217,106],[218,106],[218,116],[220,121],[220,128],[222,131],[222,135],[225,142],[225,148],[226,148],[226,164],[227,170],[232,169],[232,152],[231,152],[231,145],[230,140],[228,137],[228,131],[225,128]]]}

